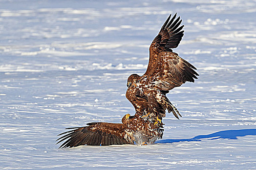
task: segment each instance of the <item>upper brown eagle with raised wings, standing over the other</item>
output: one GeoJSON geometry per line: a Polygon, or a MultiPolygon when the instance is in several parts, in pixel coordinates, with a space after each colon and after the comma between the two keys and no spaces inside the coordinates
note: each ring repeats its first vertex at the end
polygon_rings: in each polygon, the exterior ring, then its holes
{"type": "MultiPolygon", "coordinates": [[[[167,18],[159,34],[154,38],[149,47],[149,65],[144,75],[132,74],[128,77],[128,90],[133,94],[126,96],[143,96],[147,100],[148,110],[146,117],[156,118],[156,124],[161,122],[165,116],[165,110],[172,112],[179,119],[181,117],[178,110],[171,104],[166,94],[174,87],[180,86],[185,82],[194,82],[199,76],[196,69],[189,62],[172,52],[181,41],[184,31],[181,31],[184,25],[180,26],[180,17],[175,19],[177,14],[172,18],[167,18]],[[131,89],[129,89],[131,88],[131,89]],[[163,112],[164,110],[164,112],[163,112]]],[[[127,98],[128,98],[127,97],[127,98]]],[[[142,98],[141,98],[142,99],[142,98]]],[[[146,105],[146,102],[137,102],[133,99],[128,100],[133,104],[137,111],[146,105]]]]}

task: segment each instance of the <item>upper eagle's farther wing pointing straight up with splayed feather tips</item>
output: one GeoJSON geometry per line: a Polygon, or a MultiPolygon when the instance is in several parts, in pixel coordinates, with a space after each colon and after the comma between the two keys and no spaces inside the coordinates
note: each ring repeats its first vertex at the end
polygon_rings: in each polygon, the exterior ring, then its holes
{"type": "Polygon", "coordinates": [[[177,16],[177,13],[171,18],[171,15],[167,18],[164,25],[162,26],[159,34],[154,38],[149,48],[149,66],[144,75],[154,68],[157,56],[162,51],[170,51],[171,49],[178,47],[184,31],[181,31],[184,25],[180,26],[181,19],[177,16]]]}

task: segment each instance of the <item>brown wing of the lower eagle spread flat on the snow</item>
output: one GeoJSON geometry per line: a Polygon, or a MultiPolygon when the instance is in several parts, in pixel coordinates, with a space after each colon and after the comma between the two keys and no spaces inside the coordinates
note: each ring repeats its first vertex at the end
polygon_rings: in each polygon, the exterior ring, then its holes
{"type": "MultiPolygon", "coordinates": [[[[59,148],[76,147],[79,145],[122,145],[133,144],[131,133],[121,123],[87,123],[85,127],[66,128],[72,129],[64,132],[56,141],[64,141],[59,148]]],[[[58,144],[56,143],[56,144],[58,144]]]]}

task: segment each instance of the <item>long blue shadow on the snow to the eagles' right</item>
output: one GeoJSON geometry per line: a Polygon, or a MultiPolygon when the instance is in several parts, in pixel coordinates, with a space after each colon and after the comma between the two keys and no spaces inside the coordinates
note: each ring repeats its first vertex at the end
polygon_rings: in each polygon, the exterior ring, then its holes
{"type": "Polygon", "coordinates": [[[219,131],[209,135],[199,135],[190,139],[164,139],[158,140],[155,143],[173,143],[173,142],[191,142],[191,141],[201,141],[200,139],[214,137],[208,140],[214,139],[237,139],[237,136],[247,136],[247,135],[256,135],[256,129],[241,129],[241,130],[226,130],[219,131]]]}

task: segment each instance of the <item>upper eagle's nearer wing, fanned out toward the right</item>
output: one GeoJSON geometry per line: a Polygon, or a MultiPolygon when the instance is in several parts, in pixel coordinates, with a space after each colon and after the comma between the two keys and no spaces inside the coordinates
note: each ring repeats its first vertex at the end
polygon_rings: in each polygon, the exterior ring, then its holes
{"type": "Polygon", "coordinates": [[[159,90],[171,90],[185,82],[194,82],[199,74],[195,67],[182,59],[174,52],[160,52],[157,57],[157,64],[149,75],[149,84],[159,90]]]}

